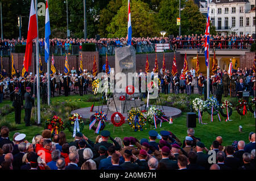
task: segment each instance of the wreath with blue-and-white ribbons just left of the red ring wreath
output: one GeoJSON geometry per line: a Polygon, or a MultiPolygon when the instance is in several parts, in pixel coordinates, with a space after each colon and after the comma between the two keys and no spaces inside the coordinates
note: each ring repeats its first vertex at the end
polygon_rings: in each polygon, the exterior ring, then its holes
{"type": "Polygon", "coordinates": [[[106,118],[106,114],[101,111],[94,113],[94,115],[90,116],[90,122],[89,122],[89,130],[92,129],[95,133],[99,133],[105,128],[105,122],[108,119],[106,118]],[[98,122],[97,127],[95,124],[98,122]]]}

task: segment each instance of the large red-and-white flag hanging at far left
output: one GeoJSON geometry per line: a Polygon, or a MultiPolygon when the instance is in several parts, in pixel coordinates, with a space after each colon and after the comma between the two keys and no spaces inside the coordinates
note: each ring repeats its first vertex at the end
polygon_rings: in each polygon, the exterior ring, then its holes
{"type": "Polygon", "coordinates": [[[31,56],[32,56],[32,40],[38,37],[38,27],[36,22],[35,5],[34,0],[31,1],[30,6],[30,20],[28,22],[27,31],[27,45],[24,60],[24,68],[28,71],[28,67],[31,66],[31,56]]]}

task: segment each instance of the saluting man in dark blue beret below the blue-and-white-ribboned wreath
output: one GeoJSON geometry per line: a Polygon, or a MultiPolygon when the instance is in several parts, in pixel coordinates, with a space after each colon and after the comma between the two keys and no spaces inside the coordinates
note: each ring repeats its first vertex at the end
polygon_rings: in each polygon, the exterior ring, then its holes
{"type": "Polygon", "coordinates": [[[109,131],[102,131],[101,132],[101,138],[102,138],[102,141],[97,143],[96,145],[94,145],[94,150],[96,151],[96,157],[98,156],[98,148],[100,146],[105,146],[107,149],[110,147],[110,146],[113,146],[112,143],[108,142],[108,140],[110,139],[114,145],[115,145],[115,150],[120,150],[121,149],[121,146],[118,144],[117,141],[115,141],[112,137],[110,137],[110,132],[109,131]]]}

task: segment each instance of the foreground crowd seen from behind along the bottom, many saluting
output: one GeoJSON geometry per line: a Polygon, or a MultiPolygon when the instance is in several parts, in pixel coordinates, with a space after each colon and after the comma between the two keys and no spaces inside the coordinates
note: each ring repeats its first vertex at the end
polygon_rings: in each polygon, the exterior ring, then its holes
{"type": "Polygon", "coordinates": [[[0,170],[254,170],[255,133],[249,140],[234,141],[224,146],[221,136],[207,148],[188,128],[184,141],[174,132],[155,130],[148,139],[110,136],[101,131],[95,141],[76,132],[67,142],[64,132],[54,134],[44,130],[31,142],[26,134],[1,128],[0,170]],[[246,144],[247,142],[247,144],[246,144]],[[216,154],[213,154],[216,153],[216,154]],[[216,157],[212,157],[216,155],[216,157]],[[210,158],[212,157],[212,158],[210,158]]]}

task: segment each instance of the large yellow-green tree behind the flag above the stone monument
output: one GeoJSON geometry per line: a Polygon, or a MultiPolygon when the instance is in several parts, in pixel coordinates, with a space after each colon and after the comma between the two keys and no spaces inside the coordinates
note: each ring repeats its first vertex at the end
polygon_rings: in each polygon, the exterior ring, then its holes
{"type": "MultiPolygon", "coordinates": [[[[108,25],[108,37],[126,37],[127,36],[127,3],[123,4],[114,16],[112,22],[108,25]]],[[[157,36],[159,34],[156,24],[155,14],[150,14],[147,3],[142,1],[130,1],[131,26],[133,37],[157,36]]]]}

